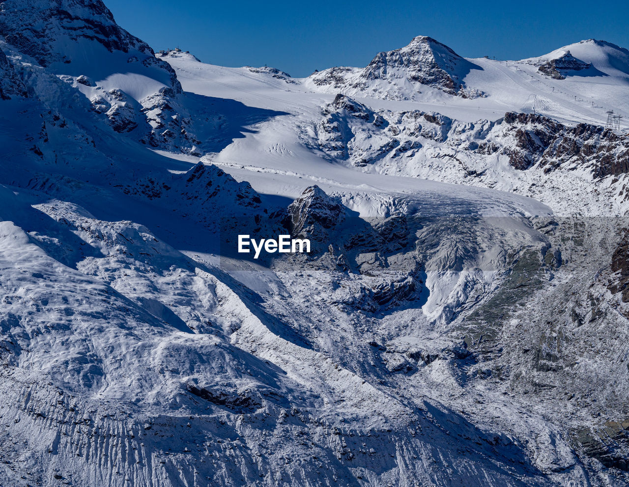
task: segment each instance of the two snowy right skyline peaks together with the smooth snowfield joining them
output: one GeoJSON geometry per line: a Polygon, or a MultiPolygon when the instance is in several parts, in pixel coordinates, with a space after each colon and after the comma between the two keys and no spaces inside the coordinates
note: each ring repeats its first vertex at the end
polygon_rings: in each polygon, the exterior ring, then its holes
{"type": "Polygon", "coordinates": [[[425,111],[466,121],[495,120],[505,111],[535,111],[600,125],[605,121],[601,108],[621,113],[629,109],[623,96],[629,87],[628,70],[626,49],[603,41],[582,41],[537,58],[499,61],[464,59],[418,36],[404,48],[379,53],[365,68],[322,70],[303,85],[308,91],[340,92],[359,101],[414,101],[425,111]]]}

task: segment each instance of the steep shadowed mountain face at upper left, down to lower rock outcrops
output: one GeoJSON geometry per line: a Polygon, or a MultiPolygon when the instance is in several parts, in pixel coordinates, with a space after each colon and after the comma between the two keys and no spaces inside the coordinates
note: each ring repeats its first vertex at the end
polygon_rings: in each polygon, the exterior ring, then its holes
{"type": "Polygon", "coordinates": [[[116,25],[101,1],[6,0],[0,9],[0,35],[16,57],[33,59],[71,84],[114,132],[194,151],[199,141],[188,133],[191,120],[174,70],[116,25]]]}

